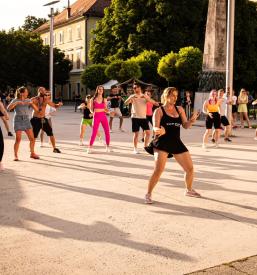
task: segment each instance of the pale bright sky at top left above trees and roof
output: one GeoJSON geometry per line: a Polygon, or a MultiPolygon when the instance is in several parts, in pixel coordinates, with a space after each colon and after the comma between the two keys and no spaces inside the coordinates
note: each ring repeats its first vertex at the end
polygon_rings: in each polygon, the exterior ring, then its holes
{"type": "MultiPolygon", "coordinates": [[[[0,30],[9,30],[12,27],[17,29],[22,26],[26,16],[33,15],[41,18],[48,18],[50,7],[43,7],[52,0],[1,0],[0,4],[0,30]]],[[[76,0],[70,0],[73,4],[76,0]]],[[[54,5],[59,11],[67,6],[67,0],[60,0],[54,5]]]]}

